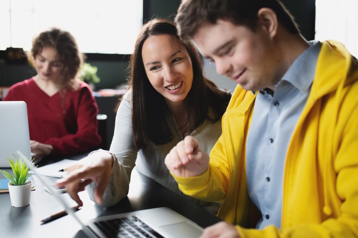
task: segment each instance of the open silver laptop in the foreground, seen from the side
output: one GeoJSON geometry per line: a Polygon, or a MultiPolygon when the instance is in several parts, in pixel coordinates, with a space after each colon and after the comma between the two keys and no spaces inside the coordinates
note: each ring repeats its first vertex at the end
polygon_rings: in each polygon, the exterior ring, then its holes
{"type": "Polygon", "coordinates": [[[49,189],[53,196],[62,204],[67,214],[74,218],[88,237],[145,237],[145,238],[198,238],[203,228],[188,218],[167,207],[152,208],[111,216],[98,217],[89,221],[81,219],[72,211],[64,199],[50,186],[47,178],[39,176],[35,166],[23,153],[29,169],[49,189]]]}

